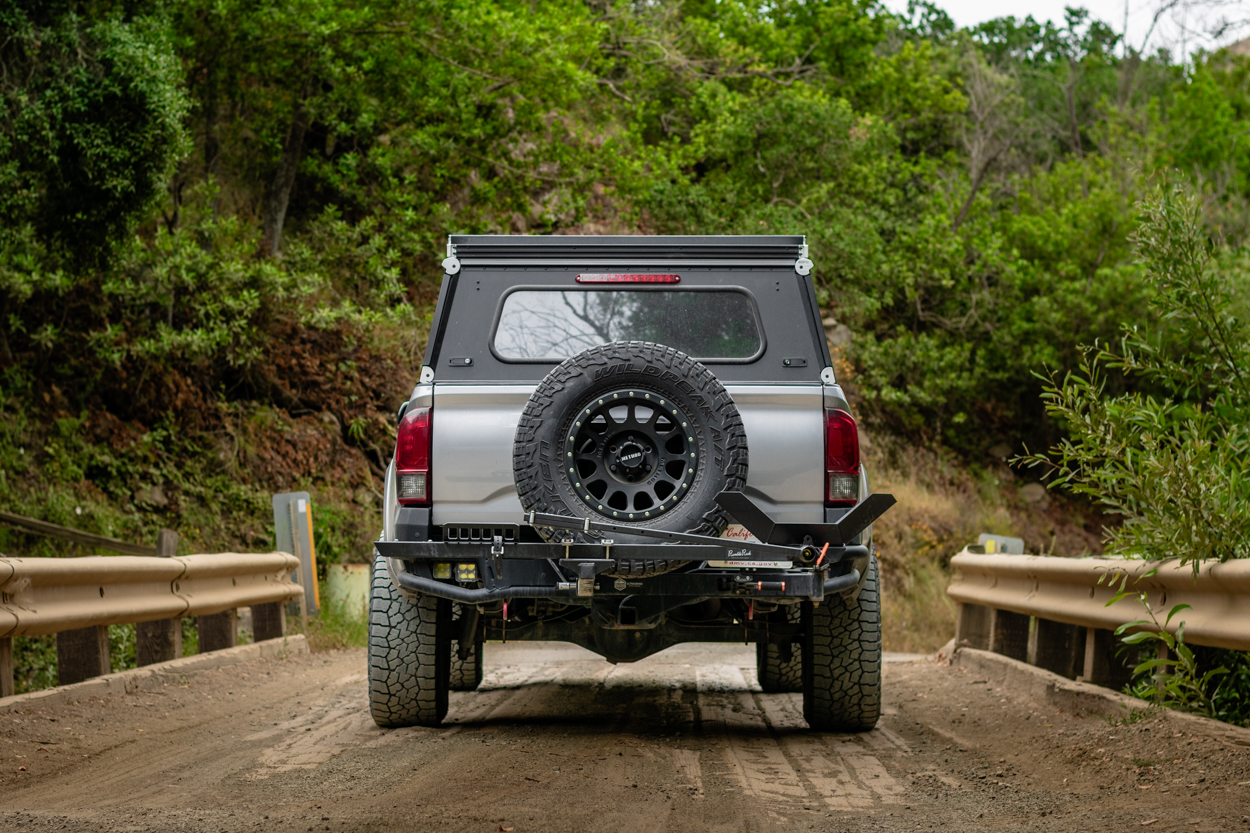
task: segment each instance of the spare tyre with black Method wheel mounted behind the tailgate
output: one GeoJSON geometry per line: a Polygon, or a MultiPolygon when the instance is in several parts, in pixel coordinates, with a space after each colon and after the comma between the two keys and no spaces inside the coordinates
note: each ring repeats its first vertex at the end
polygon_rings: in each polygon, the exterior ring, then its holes
{"type": "MultiPolygon", "coordinates": [[[[746,483],[746,433],[734,400],[702,364],[662,344],[614,341],[542,379],[516,427],[512,473],[525,512],[719,535],[729,518],[716,494],[746,483]]],[[[602,538],[539,533],[546,540],[602,538]]],[[[618,559],[610,574],[655,575],[681,564],[618,559]]]]}

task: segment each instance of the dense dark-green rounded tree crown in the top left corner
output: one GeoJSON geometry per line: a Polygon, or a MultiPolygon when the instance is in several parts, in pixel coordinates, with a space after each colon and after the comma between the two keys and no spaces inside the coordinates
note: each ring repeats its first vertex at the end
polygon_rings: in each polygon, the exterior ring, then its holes
{"type": "MultiPolygon", "coordinates": [[[[155,4],[0,4],[0,225],[10,258],[44,246],[99,265],[186,153],[188,98],[155,4]],[[94,13],[94,14],[92,14],[94,13]]],[[[0,291],[22,295],[11,259],[0,291]]]]}

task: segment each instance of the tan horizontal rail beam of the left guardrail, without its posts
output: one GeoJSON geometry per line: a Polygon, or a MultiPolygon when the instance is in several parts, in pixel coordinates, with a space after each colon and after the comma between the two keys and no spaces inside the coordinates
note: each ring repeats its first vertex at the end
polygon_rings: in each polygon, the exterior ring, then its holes
{"type": "Polygon", "coordinates": [[[289,602],[286,553],[0,558],[0,639],[289,602]]]}

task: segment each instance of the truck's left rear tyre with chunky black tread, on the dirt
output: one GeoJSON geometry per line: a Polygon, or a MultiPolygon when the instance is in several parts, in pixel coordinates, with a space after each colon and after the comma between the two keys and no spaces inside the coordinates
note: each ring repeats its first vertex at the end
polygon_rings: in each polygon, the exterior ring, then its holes
{"type": "Polygon", "coordinates": [[[374,558],[369,599],[369,712],[384,729],[439,725],[448,714],[451,603],[399,594],[374,558]]]}

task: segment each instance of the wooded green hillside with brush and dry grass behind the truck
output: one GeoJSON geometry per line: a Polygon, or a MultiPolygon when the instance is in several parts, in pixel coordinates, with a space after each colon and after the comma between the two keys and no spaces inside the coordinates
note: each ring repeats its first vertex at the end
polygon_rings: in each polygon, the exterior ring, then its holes
{"type": "Polygon", "coordinates": [[[1079,9],[0,0],[0,504],[184,552],[270,547],[302,488],[319,552],[364,559],[448,233],[802,233],[915,498],[884,575],[895,620],[930,612],[892,647],[932,647],[974,524],[1100,545],[1004,459],[1069,437],[1036,371],[1168,329],[1140,198],[1182,184],[1229,263],[1250,231],[1250,59],[1079,9]]]}

